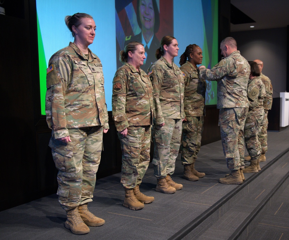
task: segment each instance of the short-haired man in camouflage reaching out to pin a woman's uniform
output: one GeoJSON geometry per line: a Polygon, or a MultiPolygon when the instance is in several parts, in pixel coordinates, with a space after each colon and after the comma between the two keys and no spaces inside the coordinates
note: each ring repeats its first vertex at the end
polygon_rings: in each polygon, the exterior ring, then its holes
{"type": "MultiPolygon", "coordinates": [[[[234,38],[228,37],[221,42],[221,54],[225,57],[211,70],[200,66],[200,77],[217,81],[217,108],[220,109],[219,123],[224,155],[231,174],[219,181],[223,184],[241,184],[244,163],[240,163],[238,135],[244,136],[244,124],[248,113],[247,86],[250,66],[237,51],[234,38]]],[[[244,147],[244,145],[243,145],[244,147]]],[[[239,146],[240,148],[240,146],[239,146]]]]}

